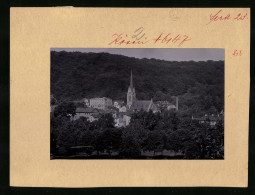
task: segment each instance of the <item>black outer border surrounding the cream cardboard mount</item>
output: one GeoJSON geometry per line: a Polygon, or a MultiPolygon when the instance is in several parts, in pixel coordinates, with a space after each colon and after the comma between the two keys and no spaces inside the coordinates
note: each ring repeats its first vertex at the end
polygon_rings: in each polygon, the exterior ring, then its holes
{"type": "MultiPolygon", "coordinates": [[[[113,194],[119,194],[119,193],[125,193],[125,194],[133,194],[133,193],[173,193],[173,194],[194,194],[194,193],[207,193],[209,194],[215,194],[215,193],[222,193],[222,194],[252,194],[254,193],[255,189],[255,113],[250,112],[250,120],[249,120],[249,178],[248,178],[248,188],[222,188],[222,187],[192,187],[192,188],[178,188],[178,187],[169,187],[169,188],[80,188],[80,189],[72,189],[72,188],[27,188],[27,187],[10,187],[9,186],[9,102],[10,102],[10,77],[9,77],[9,21],[10,21],[10,7],[50,7],[50,6],[70,6],[71,4],[76,7],[251,7],[251,54],[254,53],[254,46],[255,46],[255,40],[254,40],[254,4],[251,3],[251,1],[248,0],[242,0],[242,1],[220,1],[220,2],[212,2],[212,1],[171,1],[171,2],[164,2],[161,0],[158,1],[145,1],[145,2],[138,2],[138,1],[131,1],[131,2],[120,2],[120,1],[83,1],[83,2],[72,2],[72,1],[50,1],[50,0],[38,0],[38,1],[18,1],[13,0],[10,4],[9,2],[3,1],[3,6],[5,8],[4,12],[1,12],[1,18],[4,18],[4,22],[2,23],[2,27],[5,28],[3,39],[1,39],[1,51],[4,54],[2,63],[1,63],[1,84],[3,84],[3,88],[0,94],[1,98],[1,136],[0,136],[0,142],[3,144],[3,147],[0,149],[0,154],[3,156],[1,158],[1,174],[0,174],[0,190],[3,192],[8,193],[26,193],[26,194],[34,194],[34,193],[113,193],[113,194]],[[2,104],[3,103],[3,104],[2,104]],[[4,106],[2,106],[4,105],[4,106]]],[[[255,68],[254,68],[254,55],[251,55],[250,57],[250,110],[255,110],[255,68]]]]}

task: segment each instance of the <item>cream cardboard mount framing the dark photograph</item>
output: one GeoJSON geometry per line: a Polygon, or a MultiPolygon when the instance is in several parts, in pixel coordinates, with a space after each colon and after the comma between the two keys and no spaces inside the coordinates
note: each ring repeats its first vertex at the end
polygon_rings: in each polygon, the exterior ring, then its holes
{"type": "Polygon", "coordinates": [[[249,8],[10,12],[11,186],[247,186],[249,8]],[[51,48],[224,49],[224,160],[50,160],[51,48]]]}

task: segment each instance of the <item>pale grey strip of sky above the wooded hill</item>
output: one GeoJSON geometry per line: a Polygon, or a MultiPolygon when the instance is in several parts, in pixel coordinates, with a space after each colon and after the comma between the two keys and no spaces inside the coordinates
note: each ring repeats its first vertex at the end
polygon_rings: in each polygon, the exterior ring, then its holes
{"type": "Polygon", "coordinates": [[[51,51],[79,51],[79,52],[94,52],[94,53],[110,53],[120,54],[135,58],[155,58],[167,61],[207,61],[207,60],[224,60],[224,49],[217,48],[52,48],[51,51]]]}

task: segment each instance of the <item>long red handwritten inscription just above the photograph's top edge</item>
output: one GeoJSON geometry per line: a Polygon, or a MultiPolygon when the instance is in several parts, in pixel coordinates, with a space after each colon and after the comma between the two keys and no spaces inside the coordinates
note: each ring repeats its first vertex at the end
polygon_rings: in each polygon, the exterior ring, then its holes
{"type": "Polygon", "coordinates": [[[173,33],[160,33],[151,39],[144,35],[138,38],[134,35],[114,33],[108,45],[144,45],[150,42],[153,44],[176,44],[178,47],[181,47],[185,42],[191,40],[187,35],[173,33]]]}

